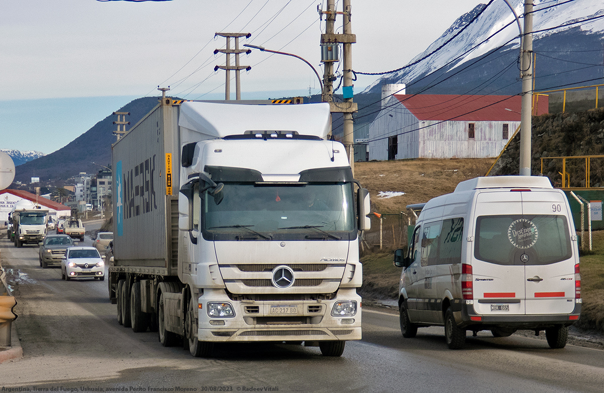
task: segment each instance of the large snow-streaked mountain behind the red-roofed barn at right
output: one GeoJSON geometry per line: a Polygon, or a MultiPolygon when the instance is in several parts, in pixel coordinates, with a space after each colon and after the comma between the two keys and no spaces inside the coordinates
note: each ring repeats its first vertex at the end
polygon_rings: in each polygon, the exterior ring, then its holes
{"type": "MultiPolygon", "coordinates": [[[[510,4],[524,29],[524,0],[511,0],[510,4]]],[[[581,85],[585,78],[602,78],[602,0],[535,0],[533,31],[535,74],[536,78],[541,77],[536,90],[565,83],[581,85]]],[[[519,44],[518,24],[506,2],[478,4],[411,60],[408,67],[384,78],[406,83],[408,93],[421,92],[438,81],[437,88],[426,93],[516,94],[519,44]],[[454,76],[455,73],[458,74],[454,76]],[[474,91],[468,90],[474,87],[474,91]]],[[[596,83],[602,80],[582,85],[596,83]]],[[[379,92],[380,85],[381,78],[364,92],[379,92]]]]}

